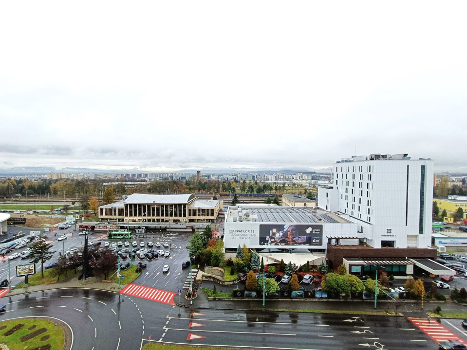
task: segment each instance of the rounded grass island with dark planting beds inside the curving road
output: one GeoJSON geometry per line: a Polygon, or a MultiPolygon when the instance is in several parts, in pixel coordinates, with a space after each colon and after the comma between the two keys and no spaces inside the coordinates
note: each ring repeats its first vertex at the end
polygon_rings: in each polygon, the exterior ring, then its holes
{"type": "Polygon", "coordinates": [[[50,349],[63,349],[65,344],[65,334],[61,327],[43,319],[19,318],[3,321],[0,322],[0,330],[0,343],[6,344],[10,350],[34,349],[45,345],[50,345],[50,349]],[[13,334],[5,335],[19,324],[24,326],[13,334]]]}

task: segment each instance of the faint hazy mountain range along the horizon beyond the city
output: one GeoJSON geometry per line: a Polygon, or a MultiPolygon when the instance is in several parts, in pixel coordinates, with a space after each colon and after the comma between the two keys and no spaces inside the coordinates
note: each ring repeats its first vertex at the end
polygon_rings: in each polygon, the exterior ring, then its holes
{"type": "MultiPolygon", "coordinates": [[[[134,173],[188,173],[188,174],[196,174],[198,169],[182,169],[173,172],[154,172],[154,171],[142,171],[137,169],[132,170],[102,170],[102,169],[92,169],[92,168],[62,168],[57,169],[53,167],[17,167],[17,168],[10,168],[10,169],[0,169],[0,176],[20,176],[20,175],[45,175],[49,173],[65,173],[65,174],[118,174],[118,173],[127,173],[127,174],[134,174],[134,173]]],[[[330,170],[331,171],[331,170],[330,170]]],[[[201,174],[274,174],[274,173],[285,173],[285,174],[296,174],[296,173],[303,173],[303,174],[316,174],[317,172],[311,170],[257,170],[257,171],[245,171],[244,169],[213,169],[209,171],[202,170],[201,174]]],[[[326,172],[323,172],[326,173],[326,172]]]]}

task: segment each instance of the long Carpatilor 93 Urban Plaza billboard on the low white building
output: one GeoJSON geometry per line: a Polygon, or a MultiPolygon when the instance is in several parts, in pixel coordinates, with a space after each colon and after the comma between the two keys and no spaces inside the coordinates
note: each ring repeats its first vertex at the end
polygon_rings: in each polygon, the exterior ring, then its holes
{"type": "Polygon", "coordinates": [[[226,224],[224,245],[236,248],[239,245],[249,248],[323,248],[322,224],[226,224]]]}

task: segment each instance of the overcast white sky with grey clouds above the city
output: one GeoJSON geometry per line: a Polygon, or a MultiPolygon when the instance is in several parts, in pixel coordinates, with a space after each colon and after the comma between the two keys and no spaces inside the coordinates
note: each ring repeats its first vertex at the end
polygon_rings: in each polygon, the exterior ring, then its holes
{"type": "Polygon", "coordinates": [[[466,1],[3,1],[0,168],[467,172],[466,1]]]}

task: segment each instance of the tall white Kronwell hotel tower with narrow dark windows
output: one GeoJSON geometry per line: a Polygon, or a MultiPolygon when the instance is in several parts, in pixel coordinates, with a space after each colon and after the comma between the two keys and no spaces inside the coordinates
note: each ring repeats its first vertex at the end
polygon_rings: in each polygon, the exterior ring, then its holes
{"type": "Polygon", "coordinates": [[[349,215],[368,245],[431,246],[431,159],[411,160],[407,154],[344,158],[334,165],[334,188],[319,190],[318,207],[349,215]]]}

